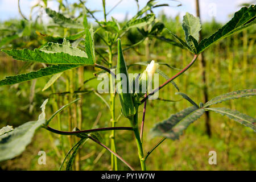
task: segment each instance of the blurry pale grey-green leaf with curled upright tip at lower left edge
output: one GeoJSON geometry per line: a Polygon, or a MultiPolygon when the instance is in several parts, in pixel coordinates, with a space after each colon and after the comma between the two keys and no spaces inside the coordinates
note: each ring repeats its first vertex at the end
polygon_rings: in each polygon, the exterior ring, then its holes
{"type": "Polygon", "coordinates": [[[44,109],[47,101],[44,101],[41,106],[42,114],[39,115],[38,121],[26,122],[0,136],[0,162],[15,158],[30,144],[35,131],[46,123],[44,109]]]}

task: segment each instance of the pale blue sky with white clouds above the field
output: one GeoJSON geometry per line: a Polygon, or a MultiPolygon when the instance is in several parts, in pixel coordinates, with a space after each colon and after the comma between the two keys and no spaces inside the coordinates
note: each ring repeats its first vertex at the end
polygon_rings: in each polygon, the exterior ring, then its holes
{"type": "MultiPolygon", "coordinates": [[[[68,3],[79,2],[79,0],[67,0],[68,3]]],[[[112,9],[120,0],[106,0],[106,12],[112,9]]],[[[142,8],[146,5],[148,0],[139,0],[139,5],[142,8]]],[[[40,0],[20,0],[20,9],[24,16],[29,17],[30,9],[33,5],[40,2],[40,0]]],[[[154,13],[158,15],[161,11],[167,16],[175,17],[179,14],[180,17],[184,16],[186,12],[193,15],[195,12],[195,0],[159,0],[159,4],[168,3],[170,6],[158,7],[154,9],[154,13]],[[177,6],[181,3],[181,6],[177,6]]],[[[228,20],[233,16],[234,12],[238,11],[241,7],[241,3],[252,2],[251,0],[200,0],[200,14],[201,20],[203,22],[216,19],[218,22],[228,22],[228,20]]],[[[253,1],[255,3],[256,1],[253,1]]],[[[48,0],[48,7],[57,10],[58,3],[57,0],[48,0]]],[[[101,10],[95,14],[96,18],[103,20],[102,11],[102,0],[88,0],[86,2],[86,7],[90,10],[101,10]]],[[[135,0],[123,0],[119,5],[111,11],[108,18],[113,16],[117,20],[131,18],[137,13],[137,4],[135,0]]],[[[35,16],[36,12],[34,12],[35,16]]],[[[47,21],[47,15],[43,13],[44,19],[47,21]]],[[[10,18],[21,18],[18,12],[18,0],[0,0],[0,21],[8,20],[10,18]]]]}

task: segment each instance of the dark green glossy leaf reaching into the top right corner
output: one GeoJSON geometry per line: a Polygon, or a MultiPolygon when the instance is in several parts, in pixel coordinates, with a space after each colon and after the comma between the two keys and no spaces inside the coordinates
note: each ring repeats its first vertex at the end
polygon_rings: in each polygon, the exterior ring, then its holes
{"type": "Polygon", "coordinates": [[[255,5],[251,5],[249,8],[242,7],[239,11],[234,14],[234,17],[226,23],[222,28],[220,28],[217,32],[211,35],[209,38],[204,39],[200,42],[198,47],[198,53],[201,53],[217,42],[218,40],[224,39],[229,35],[232,35],[234,32],[240,31],[243,28],[250,26],[256,22],[256,7],[255,5]]]}

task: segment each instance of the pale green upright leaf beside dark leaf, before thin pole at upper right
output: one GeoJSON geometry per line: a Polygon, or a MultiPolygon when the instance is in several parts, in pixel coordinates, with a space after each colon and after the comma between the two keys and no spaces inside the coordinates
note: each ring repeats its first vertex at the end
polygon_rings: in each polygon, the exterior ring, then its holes
{"type": "Polygon", "coordinates": [[[183,16],[182,28],[185,32],[185,39],[188,45],[191,45],[189,35],[195,38],[197,42],[199,41],[199,31],[201,30],[201,23],[198,17],[186,13],[185,16],[183,16]]]}

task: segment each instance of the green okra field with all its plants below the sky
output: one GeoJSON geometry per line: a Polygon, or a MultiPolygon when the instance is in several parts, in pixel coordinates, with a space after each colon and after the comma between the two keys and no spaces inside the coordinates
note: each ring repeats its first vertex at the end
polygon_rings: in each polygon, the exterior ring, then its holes
{"type": "Polygon", "coordinates": [[[0,170],[256,169],[255,5],[51,2],[0,22],[0,170]]]}

